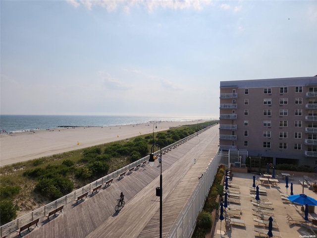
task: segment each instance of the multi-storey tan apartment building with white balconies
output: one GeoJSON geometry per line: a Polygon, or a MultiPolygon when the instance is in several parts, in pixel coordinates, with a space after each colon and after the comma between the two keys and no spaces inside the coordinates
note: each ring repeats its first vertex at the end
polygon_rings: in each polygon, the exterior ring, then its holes
{"type": "Polygon", "coordinates": [[[220,82],[219,147],[317,166],[317,76],[220,82]]]}

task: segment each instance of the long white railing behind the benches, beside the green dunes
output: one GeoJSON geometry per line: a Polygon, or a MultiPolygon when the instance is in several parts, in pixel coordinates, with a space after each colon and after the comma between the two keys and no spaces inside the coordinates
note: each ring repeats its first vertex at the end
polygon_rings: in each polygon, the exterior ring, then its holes
{"type": "MultiPolygon", "coordinates": [[[[210,126],[200,130],[198,133],[201,133],[209,128],[210,128],[210,126]]],[[[162,152],[173,148],[174,146],[176,146],[179,143],[183,143],[183,142],[193,138],[198,133],[195,132],[192,135],[189,135],[189,136],[187,136],[187,137],[185,137],[177,142],[174,142],[173,144],[170,144],[170,145],[162,148],[162,152]]],[[[154,152],[154,155],[158,155],[159,152],[160,152],[159,150],[154,152]]],[[[66,204],[73,202],[78,196],[93,190],[93,188],[99,186],[100,184],[105,183],[107,180],[116,178],[117,176],[119,176],[123,172],[126,172],[129,169],[143,163],[144,161],[148,161],[148,160],[149,160],[149,155],[147,155],[146,157],[143,157],[142,159],[135,161],[135,162],[133,162],[133,163],[117,170],[117,171],[114,171],[113,173],[108,174],[103,178],[100,178],[96,181],[93,181],[93,182],[91,182],[91,183],[89,183],[89,184],[87,184],[87,185],[61,197],[61,198],[58,198],[57,200],[55,200],[55,201],[53,201],[53,202],[51,202],[43,207],[40,207],[40,208],[22,216],[22,217],[19,217],[19,218],[15,219],[7,224],[4,224],[3,226],[0,227],[0,237],[9,236],[9,235],[15,233],[19,229],[19,227],[22,227],[22,226],[38,219],[38,218],[39,219],[44,218],[45,215],[48,214],[50,211],[53,211],[54,209],[56,209],[62,205],[66,205],[66,204]]]]}

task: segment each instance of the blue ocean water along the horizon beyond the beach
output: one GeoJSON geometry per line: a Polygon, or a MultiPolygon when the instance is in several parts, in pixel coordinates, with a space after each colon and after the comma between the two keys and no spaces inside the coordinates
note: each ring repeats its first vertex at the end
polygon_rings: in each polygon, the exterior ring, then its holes
{"type": "Polygon", "coordinates": [[[204,117],[131,117],[131,116],[41,116],[41,115],[0,115],[1,133],[28,130],[46,130],[72,126],[115,126],[150,123],[151,121],[192,121],[209,120],[204,117]]]}

